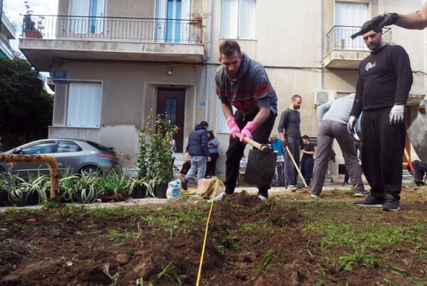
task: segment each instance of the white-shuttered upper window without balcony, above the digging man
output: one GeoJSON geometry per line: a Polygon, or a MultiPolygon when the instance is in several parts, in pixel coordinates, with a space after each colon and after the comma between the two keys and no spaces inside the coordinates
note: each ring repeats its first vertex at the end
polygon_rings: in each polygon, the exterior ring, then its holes
{"type": "Polygon", "coordinates": [[[221,38],[255,39],[255,0],[221,0],[221,38]]]}

